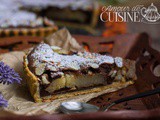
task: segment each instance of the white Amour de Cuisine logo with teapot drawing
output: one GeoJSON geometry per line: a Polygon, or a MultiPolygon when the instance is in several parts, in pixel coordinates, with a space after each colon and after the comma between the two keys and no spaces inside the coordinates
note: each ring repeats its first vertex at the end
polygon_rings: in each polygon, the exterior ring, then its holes
{"type": "Polygon", "coordinates": [[[129,6],[104,6],[100,14],[102,22],[143,22],[146,24],[160,23],[160,14],[157,7],[151,3],[148,8],[144,5],[129,6]]]}

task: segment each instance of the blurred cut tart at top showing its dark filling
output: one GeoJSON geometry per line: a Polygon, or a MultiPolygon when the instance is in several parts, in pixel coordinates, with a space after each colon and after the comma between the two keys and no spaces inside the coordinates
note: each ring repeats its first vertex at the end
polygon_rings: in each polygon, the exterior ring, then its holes
{"type": "Polygon", "coordinates": [[[94,31],[98,23],[100,5],[94,0],[23,0],[22,9],[44,15],[58,26],[94,31]]]}

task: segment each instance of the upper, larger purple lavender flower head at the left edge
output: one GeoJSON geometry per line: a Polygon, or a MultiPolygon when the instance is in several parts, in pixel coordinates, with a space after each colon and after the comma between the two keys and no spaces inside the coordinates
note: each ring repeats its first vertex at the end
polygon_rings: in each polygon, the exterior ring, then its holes
{"type": "Polygon", "coordinates": [[[3,62],[0,62],[0,83],[20,83],[21,80],[22,79],[20,78],[19,74],[16,73],[13,68],[10,68],[8,65],[5,65],[3,62]]]}

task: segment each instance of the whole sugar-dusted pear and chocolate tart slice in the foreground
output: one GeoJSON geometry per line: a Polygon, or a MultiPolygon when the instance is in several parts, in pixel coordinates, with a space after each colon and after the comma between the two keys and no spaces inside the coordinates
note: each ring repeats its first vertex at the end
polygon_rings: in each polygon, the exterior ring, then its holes
{"type": "Polygon", "coordinates": [[[41,43],[24,56],[36,102],[118,90],[134,83],[135,62],[89,52],[66,52],[41,43]]]}

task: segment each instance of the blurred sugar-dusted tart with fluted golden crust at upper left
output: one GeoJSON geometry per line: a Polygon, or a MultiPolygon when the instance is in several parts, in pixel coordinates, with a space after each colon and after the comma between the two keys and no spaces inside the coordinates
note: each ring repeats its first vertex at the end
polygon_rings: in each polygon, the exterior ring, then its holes
{"type": "Polygon", "coordinates": [[[10,1],[7,4],[3,1],[0,6],[0,37],[46,36],[58,29],[53,21],[21,10],[17,2],[10,1]]]}

